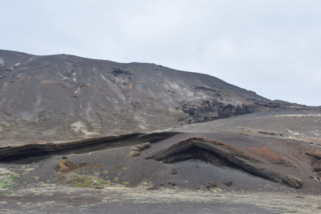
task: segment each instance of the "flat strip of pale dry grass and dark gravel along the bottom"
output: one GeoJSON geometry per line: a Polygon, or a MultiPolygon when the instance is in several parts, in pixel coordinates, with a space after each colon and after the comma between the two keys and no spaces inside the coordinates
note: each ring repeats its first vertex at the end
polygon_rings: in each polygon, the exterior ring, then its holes
{"type": "Polygon", "coordinates": [[[39,184],[0,191],[1,213],[318,213],[319,196],[300,193],[203,192],[107,187],[79,189],[39,184]]]}

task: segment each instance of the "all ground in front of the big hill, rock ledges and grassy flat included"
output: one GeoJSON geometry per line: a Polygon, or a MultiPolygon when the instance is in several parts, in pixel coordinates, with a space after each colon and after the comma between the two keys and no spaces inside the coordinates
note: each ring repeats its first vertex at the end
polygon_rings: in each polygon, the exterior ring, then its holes
{"type": "Polygon", "coordinates": [[[282,111],[2,147],[0,212],[318,213],[320,135],[320,111],[282,111]]]}

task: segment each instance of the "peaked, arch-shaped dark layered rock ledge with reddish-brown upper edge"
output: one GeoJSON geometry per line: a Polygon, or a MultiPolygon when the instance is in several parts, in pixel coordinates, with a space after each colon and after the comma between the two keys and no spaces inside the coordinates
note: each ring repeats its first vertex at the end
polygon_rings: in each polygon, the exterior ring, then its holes
{"type": "MultiPolygon", "coordinates": [[[[264,159],[212,139],[189,138],[146,157],[163,163],[174,163],[190,158],[201,159],[219,167],[239,167],[253,175],[293,188],[299,188],[303,183],[291,175],[282,176],[282,169],[277,170],[272,163],[264,159]]],[[[232,182],[226,182],[225,185],[232,185],[232,182]]]]}

